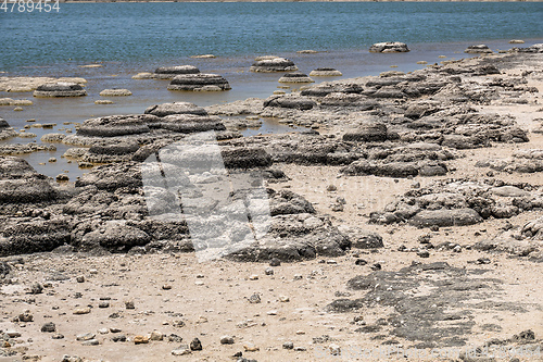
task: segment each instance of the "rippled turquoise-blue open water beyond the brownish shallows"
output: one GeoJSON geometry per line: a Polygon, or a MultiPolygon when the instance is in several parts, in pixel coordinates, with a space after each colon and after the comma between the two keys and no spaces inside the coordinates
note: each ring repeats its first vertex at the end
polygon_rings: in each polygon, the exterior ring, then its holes
{"type": "Polygon", "coordinates": [[[0,12],[0,70],[543,37],[542,2],[61,3],[0,12]]]}

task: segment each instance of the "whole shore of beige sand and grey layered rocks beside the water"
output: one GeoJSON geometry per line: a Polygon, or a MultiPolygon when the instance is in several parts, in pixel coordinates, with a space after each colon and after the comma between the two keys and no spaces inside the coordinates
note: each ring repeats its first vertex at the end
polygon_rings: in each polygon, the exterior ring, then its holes
{"type": "MultiPolygon", "coordinates": [[[[382,360],[352,354],[378,347],[432,355],[505,346],[521,347],[522,362],[541,359],[530,353],[543,344],[542,58],[494,54],[88,121],[71,141],[96,147],[79,157],[113,163],[76,187],[0,158],[4,185],[36,198],[0,190],[0,353],[318,362],[382,360]],[[179,113],[188,109],[194,116],[179,113]],[[267,171],[274,227],[202,262],[207,249],[182,223],[149,216],[131,157],[174,141],[171,125],[199,132],[193,120],[219,115],[314,130],[217,130],[232,174],[249,173],[248,162],[267,171]]],[[[190,182],[213,189],[218,178],[207,176],[190,182]]]]}

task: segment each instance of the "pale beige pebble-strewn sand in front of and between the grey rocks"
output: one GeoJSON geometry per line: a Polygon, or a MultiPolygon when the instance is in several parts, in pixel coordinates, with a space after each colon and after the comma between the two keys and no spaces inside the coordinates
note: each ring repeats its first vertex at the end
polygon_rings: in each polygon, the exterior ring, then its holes
{"type": "MultiPolygon", "coordinates": [[[[494,77],[526,79],[525,88],[516,90],[523,102],[507,103],[501,98],[468,105],[477,114],[513,117],[529,140],[454,149],[456,157],[446,161],[445,175],[345,175],[343,165],[274,163],[288,179],[270,187],[302,196],[315,208],[315,215],[326,215],[324,220],[340,230],[352,227],[379,234],[383,247],[352,247],[341,254],[324,252],[276,266],[269,266],[269,260],[199,262],[194,252],[153,249],[146,253],[143,247],[122,254],[61,247],[0,258],[0,361],[459,361],[455,354],[466,351],[462,361],[491,361],[484,354],[469,354],[475,348],[484,352],[485,346],[494,353],[516,348],[516,355],[494,354],[495,361],[543,361],[538,352],[543,347],[543,259],[538,257],[543,238],[520,233],[526,224],[543,217],[542,209],[459,226],[370,223],[372,213],[439,180],[491,178],[517,185],[515,191],[523,187],[525,196],[541,195],[541,171],[475,166],[521,150],[543,149],[543,134],[538,133],[543,121],[541,55],[495,55],[457,64],[458,68],[480,64],[500,68],[500,75],[462,74],[470,89],[480,89],[494,77]],[[344,207],[334,209],[340,199],[345,200],[344,207]],[[516,239],[507,239],[504,230],[516,230],[516,239]],[[483,240],[506,245],[514,239],[529,245],[530,251],[476,247],[483,240]],[[432,248],[427,248],[429,240],[432,248]],[[127,308],[130,303],[134,309],[127,308]],[[43,332],[51,322],[54,328],[43,332]],[[194,338],[202,350],[185,346],[194,338]],[[388,355],[383,355],[386,348],[388,355]]],[[[334,84],[366,87],[366,82],[334,84]]],[[[383,109],[400,112],[402,107],[397,102],[383,109]]],[[[282,116],[303,122],[300,115],[308,111],[288,112],[282,116]]],[[[363,112],[355,113],[354,120],[363,112]]],[[[350,116],[324,116],[327,121],[318,121],[318,129],[342,136],[354,127],[354,121],[344,123],[350,116]]],[[[452,191],[446,196],[457,197],[452,191]]],[[[90,205],[87,202],[80,207],[90,205]]],[[[59,212],[54,208],[45,210],[59,212]]],[[[100,210],[105,217],[105,209],[100,210]]],[[[8,216],[3,217],[11,223],[8,216]]],[[[27,222],[35,216],[25,217],[27,222]]]]}

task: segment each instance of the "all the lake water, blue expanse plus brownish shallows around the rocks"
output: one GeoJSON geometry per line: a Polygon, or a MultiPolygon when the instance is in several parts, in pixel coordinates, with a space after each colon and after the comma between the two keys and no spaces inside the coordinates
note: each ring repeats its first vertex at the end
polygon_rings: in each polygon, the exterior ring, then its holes
{"type": "MultiPolygon", "coordinates": [[[[266,98],[280,85],[280,74],[250,73],[257,55],[289,58],[304,73],[332,66],[343,72],[343,77],[389,70],[408,72],[425,66],[418,61],[435,63],[467,57],[463,51],[473,43],[498,50],[512,48],[510,39],[523,39],[523,46],[543,42],[541,18],[542,2],[61,3],[59,13],[0,11],[0,72],[5,72],[0,76],[78,76],[88,80],[88,96],[78,99],[33,99],[31,93],[0,92],[0,98],[34,101],[23,112],[0,107],[0,117],[17,129],[29,118],[58,123],[49,133],[70,128],[64,122],[141,113],[154,103],[191,101],[209,105],[266,98]],[[380,41],[404,41],[412,51],[367,51],[380,41]],[[305,49],[318,53],[296,53],[305,49]],[[217,58],[190,58],[207,53],[217,58]],[[80,67],[90,63],[102,66],[80,67]],[[166,90],[165,80],[131,78],[157,66],[181,64],[224,75],[232,90],[173,92],[166,90]],[[105,88],[128,88],[134,96],[112,98],[112,105],[94,104],[105,88]]],[[[42,130],[30,130],[38,134],[39,142],[42,130]]],[[[286,126],[265,123],[263,129],[245,134],[286,130],[286,126]]],[[[63,160],[54,166],[38,165],[50,155],[41,152],[27,158],[39,172],[51,176],[73,168],[63,160]]]]}

